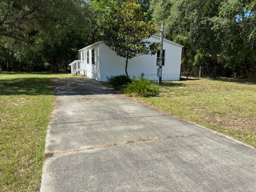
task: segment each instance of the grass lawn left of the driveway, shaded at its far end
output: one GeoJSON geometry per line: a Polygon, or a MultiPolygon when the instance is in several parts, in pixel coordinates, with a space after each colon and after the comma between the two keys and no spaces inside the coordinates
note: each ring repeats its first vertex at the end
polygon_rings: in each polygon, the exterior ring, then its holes
{"type": "Polygon", "coordinates": [[[0,73],[0,191],[40,187],[52,79],[67,74],[0,73]]]}

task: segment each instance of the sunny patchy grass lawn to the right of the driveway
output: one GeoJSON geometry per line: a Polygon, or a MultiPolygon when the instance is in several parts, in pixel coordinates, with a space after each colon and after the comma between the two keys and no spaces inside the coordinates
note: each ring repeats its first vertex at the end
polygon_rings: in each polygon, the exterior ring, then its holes
{"type": "Polygon", "coordinates": [[[160,91],[158,97],[138,99],[256,147],[256,81],[163,82],[160,91]]]}

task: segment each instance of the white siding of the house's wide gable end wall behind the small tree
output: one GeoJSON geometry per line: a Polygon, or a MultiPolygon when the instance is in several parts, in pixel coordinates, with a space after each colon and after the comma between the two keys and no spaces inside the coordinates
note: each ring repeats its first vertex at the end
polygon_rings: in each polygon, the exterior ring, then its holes
{"type": "MultiPolygon", "coordinates": [[[[159,42],[159,39],[153,36],[150,40],[159,42]]],[[[116,53],[104,43],[101,46],[101,80],[105,81],[107,76],[125,74],[125,58],[116,56],[116,53]]],[[[164,42],[163,49],[165,50],[165,65],[162,66],[162,80],[179,80],[182,47],[164,42]]],[[[130,59],[127,68],[128,75],[130,77],[141,76],[144,73],[145,78],[158,80],[156,58],[157,54],[141,55],[130,59]]]]}

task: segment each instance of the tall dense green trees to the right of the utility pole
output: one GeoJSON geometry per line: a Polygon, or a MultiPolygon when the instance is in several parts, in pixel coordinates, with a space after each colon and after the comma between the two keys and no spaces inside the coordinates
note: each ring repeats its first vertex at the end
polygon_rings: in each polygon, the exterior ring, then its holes
{"type": "Polygon", "coordinates": [[[151,4],[153,21],[165,23],[165,37],[185,46],[183,66],[204,65],[206,72],[217,66],[221,76],[231,72],[246,76],[255,67],[251,58],[255,0],[152,0],[151,4]]]}

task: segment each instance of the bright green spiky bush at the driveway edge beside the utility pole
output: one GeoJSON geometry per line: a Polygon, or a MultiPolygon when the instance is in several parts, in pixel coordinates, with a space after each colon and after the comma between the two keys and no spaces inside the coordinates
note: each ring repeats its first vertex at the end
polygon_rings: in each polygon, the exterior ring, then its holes
{"type": "Polygon", "coordinates": [[[158,95],[159,88],[147,78],[136,78],[133,76],[132,82],[128,83],[124,92],[132,96],[148,97],[158,95]]]}

